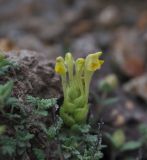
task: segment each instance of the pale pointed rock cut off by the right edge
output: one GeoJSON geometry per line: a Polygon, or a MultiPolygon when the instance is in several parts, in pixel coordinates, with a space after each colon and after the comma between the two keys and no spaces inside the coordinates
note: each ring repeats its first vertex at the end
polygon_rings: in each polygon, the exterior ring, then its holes
{"type": "Polygon", "coordinates": [[[147,74],[134,78],[123,86],[131,95],[139,96],[147,101],[147,74]]]}

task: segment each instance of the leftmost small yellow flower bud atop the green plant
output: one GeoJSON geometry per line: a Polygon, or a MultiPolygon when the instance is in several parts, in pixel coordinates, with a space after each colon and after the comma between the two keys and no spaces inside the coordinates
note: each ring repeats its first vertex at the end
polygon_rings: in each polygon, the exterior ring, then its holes
{"type": "Polygon", "coordinates": [[[56,59],[56,65],[55,65],[55,71],[58,74],[65,74],[66,73],[66,67],[64,64],[64,59],[62,57],[57,57],[56,59]]]}

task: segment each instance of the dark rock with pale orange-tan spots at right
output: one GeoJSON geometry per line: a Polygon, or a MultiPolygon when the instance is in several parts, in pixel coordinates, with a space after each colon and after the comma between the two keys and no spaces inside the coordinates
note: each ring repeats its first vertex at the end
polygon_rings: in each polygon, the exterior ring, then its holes
{"type": "Polygon", "coordinates": [[[133,122],[147,122],[146,112],[143,109],[146,106],[134,101],[133,98],[124,92],[118,96],[118,102],[103,107],[101,108],[103,112],[100,114],[100,117],[103,118],[105,124],[121,127],[127,124],[133,124],[133,122]],[[106,107],[107,110],[105,110],[106,107]]]}

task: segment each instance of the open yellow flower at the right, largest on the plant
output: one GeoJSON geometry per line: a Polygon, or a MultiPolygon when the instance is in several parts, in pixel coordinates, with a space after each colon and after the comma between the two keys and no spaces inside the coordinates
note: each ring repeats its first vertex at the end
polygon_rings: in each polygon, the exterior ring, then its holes
{"type": "Polygon", "coordinates": [[[104,63],[103,60],[98,59],[101,54],[102,52],[97,52],[86,57],[85,67],[88,71],[96,71],[101,68],[104,63]]]}

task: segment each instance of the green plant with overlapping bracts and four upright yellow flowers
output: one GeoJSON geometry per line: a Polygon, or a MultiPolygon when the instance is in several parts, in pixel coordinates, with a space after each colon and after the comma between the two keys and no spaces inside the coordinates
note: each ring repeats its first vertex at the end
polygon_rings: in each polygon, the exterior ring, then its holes
{"type": "Polygon", "coordinates": [[[91,78],[104,63],[102,52],[89,54],[85,59],[74,60],[71,53],[57,57],[55,71],[61,76],[64,102],[60,116],[68,127],[86,123],[89,111],[88,96],[91,78]]]}

